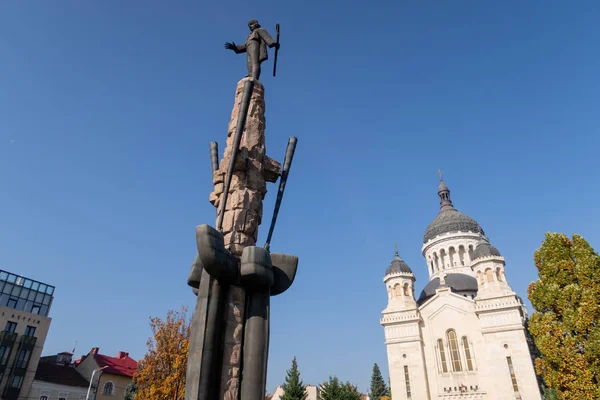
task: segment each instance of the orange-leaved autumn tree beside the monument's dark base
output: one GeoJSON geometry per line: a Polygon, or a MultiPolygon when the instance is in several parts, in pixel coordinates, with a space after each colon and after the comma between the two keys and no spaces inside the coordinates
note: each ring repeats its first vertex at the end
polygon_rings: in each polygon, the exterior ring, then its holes
{"type": "Polygon", "coordinates": [[[133,377],[136,400],[184,400],[190,327],[186,307],[150,318],[148,351],[133,377]]]}

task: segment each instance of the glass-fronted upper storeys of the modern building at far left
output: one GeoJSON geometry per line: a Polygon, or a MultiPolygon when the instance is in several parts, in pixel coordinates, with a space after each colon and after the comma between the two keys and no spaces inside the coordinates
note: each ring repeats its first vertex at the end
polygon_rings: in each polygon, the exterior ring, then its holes
{"type": "Polygon", "coordinates": [[[54,286],[0,270],[0,306],[48,316],[54,286]]]}

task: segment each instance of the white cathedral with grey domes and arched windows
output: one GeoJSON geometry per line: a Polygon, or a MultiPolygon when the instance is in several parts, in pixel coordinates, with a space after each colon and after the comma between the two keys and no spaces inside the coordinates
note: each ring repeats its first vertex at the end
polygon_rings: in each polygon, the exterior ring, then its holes
{"type": "Polygon", "coordinates": [[[454,208],[440,178],[440,212],[421,251],[429,282],[398,251],[385,272],[385,331],[394,400],[541,400],[525,336],[526,309],[506,281],[504,257],[481,226],[454,208]]]}

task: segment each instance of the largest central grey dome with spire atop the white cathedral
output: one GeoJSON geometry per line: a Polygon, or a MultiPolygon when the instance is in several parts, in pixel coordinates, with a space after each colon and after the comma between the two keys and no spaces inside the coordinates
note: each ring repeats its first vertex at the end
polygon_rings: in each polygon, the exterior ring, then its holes
{"type": "Polygon", "coordinates": [[[438,196],[440,196],[440,212],[427,229],[425,229],[423,243],[427,243],[434,237],[449,232],[460,231],[484,234],[483,229],[481,229],[477,221],[454,208],[450,200],[450,189],[448,189],[448,186],[442,181],[441,177],[438,196]]]}

